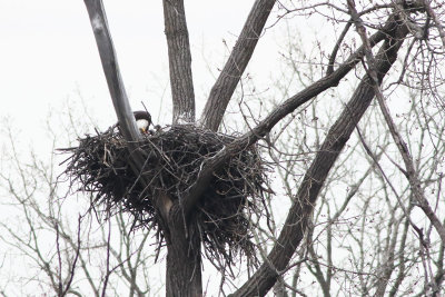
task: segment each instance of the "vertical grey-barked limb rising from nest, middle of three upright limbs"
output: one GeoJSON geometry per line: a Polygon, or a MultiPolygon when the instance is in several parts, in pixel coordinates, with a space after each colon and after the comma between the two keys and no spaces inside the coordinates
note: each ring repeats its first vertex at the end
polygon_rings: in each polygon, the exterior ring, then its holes
{"type": "Polygon", "coordinates": [[[162,4],[174,103],[172,123],[194,122],[195,91],[184,1],[164,0],[162,4]]]}

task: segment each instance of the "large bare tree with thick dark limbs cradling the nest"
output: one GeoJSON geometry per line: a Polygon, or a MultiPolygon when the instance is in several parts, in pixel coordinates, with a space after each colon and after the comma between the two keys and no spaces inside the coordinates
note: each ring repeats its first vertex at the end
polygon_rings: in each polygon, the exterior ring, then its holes
{"type": "MultiPolygon", "coordinates": [[[[117,67],[116,55],[112,50],[103,7],[101,1],[86,0],[85,2],[95,31],[103,70],[115,102],[116,112],[118,113],[119,121],[123,126],[123,136],[128,141],[130,141],[130,149],[136,151],[134,156],[134,168],[137,172],[140,172],[144,157],[137,152],[137,147],[131,148],[134,146],[131,145],[131,141],[138,140],[139,137],[125,96],[125,89],[121,83],[119,68],[117,67]]],[[[211,130],[217,130],[220,126],[227,105],[233,97],[234,90],[250,60],[251,55],[254,53],[257,40],[264,30],[267,17],[274,6],[275,1],[255,1],[228,62],[210,91],[210,97],[207,100],[200,121],[196,122],[196,125],[211,130]]],[[[291,3],[289,3],[289,6],[291,6],[291,3]]],[[[297,108],[301,107],[309,100],[313,100],[316,96],[322,95],[327,89],[337,87],[340,83],[340,80],[348,75],[350,70],[359,69],[359,62],[363,61],[365,57],[367,62],[365,68],[367,69],[367,72],[359,78],[359,83],[349,101],[346,103],[338,119],[330,127],[325,140],[319,146],[312,165],[306,170],[303,180],[300,180],[298,191],[293,195],[293,204],[289,208],[287,219],[278,238],[274,242],[274,247],[257,271],[238,290],[236,290],[233,296],[264,296],[274,286],[277,279],[280,278],[283,271],[288,268],[291,257],[304,239],[304,235],[308,229],[310,229],[309,222],[314,212],[313,210],[317,198],[326,184],[329,170],[334,166],[347,140],[350,138],[375,96],[378,99],[385,121],[387,122],[395,143],[402,154],[406,168],[402,169],[402,167],[397,166],[408,178],[413,196],[421,206],[421,209],[424,210],[425,215],[433,224],[442,241],[445,241],[443,222],[436,216],[434,209],[423,194],[418,171],[414,167],[414,161],[406,143],[402,139],[395,127],[394,120],[392,120],[389,116],[382,92],[382,82],[385,76],[389,72],[394,62],[397,60],[397,53],[404,43],[407,43],[406,50],[405,48],[403,50],[406,52],[406,58],[400,67],[403,73],[399,80],[395,82],[398,85],[412,83],[409,80],[406,82],[408,76],[405,75],[405,71],[409,69],[409,63],[424,62],[418,61],[415,57],[413,58],[411,55],[413,48],[428,56],[437,55],[435,51],[441,50],[439,48],[437,50],[434,49],[434,47],[436,47],[435,36],[437,34],[433,33],[438,32],[438,36],[443,34],[441,21],[438,20],[439,17],[437,17],[442,16],[439,7],[435,8],[431,3],[425,4],[423,1],[388,1],[384,4],[364,6],[359,8],[357,8],[354,1],[347,1],[347,3],[344,3],[343,6],[336,6],[329,1],[312,6],[305,6],[303,3],[300,6],[294,3],[294,6],[295,7],[290,9],[284,3],[279,3],[278,7],[286,16],[293,13],[309,14],[317,12],[325,16],[332,13],[335,16],[334,20],[336,21],[345,19],[346,26],[344,33],[340,34],[340,38],[337,40],[336,46],[332,51],[327,72],[312,85],[278,105],[268,116],[259,121],[258,125],[251,127],[245,135],[227,145],[212,158],[205,160],[201,165],[197,180],[189,185],[189,188],[180,195],[180,199],[174,201],[165,194],[159,195],[158,198],[154,198],[156,199],[155,206],[161,214],[161,219],[164,221],[162,232],[167,240],[167,296],[200,296],[202,294],[200,256],[190,256],[197,254],[187,253],[188,249],[199,250],[200,240],[197,237],[188,238],[187,232],[184,232],[184,229],[187,230],[187,226],[184,225],[187,225],[191,210],[199,199],[201,199],[212,174],[220,168],[230,156],[255,145],[259,139],[267,136],[278,122],[297,108]],[[367,19],[366,22],[363,21],[365,18],[367,19]],[[383,23],[375,21],[376,19],[383,18],[386,18],[386,21],[383,23]],[[433,19],[434,22],[431,22],[431,19],[433,19]],[[345,42],[350,40],[350,37],[348,38],[350,34],[350,24],[356,26],[363,46],[357,49],[352,49],[349,57],[343,57],[343,60],[340,60],[340,58],[337,57],[338,49],[339,47],[347,44],[345,42]],[[365,26],[368,27],[369,30],[373,30],[374,34],[368,36],[365,26]],[[424,44],[425,49],[422,48],[424,44]],[[374,56],[373,48],[376,46],[378,46],[378,51],[374,56]]],[[[164,1],[164,7],[169,50],[168,57],[170,61],[174,123],[182,121],[194,122],[195,98],[184,3],[182,1],[164,1]]],[[[323,62],[324,61],[319,61],[319,63],[323,62]]],[[[438,65],[435,63],[434,67],[438,67],[438,65]]],[[[415,70],[413,69],[413,71],[415,70]]],[[[416,73],[431,78],[431,76],[425,72],[416,73]]],[[[435,79],[437,79],[437,77],[435,77],[435,79]]],[[[442,82],[437,82],[435,87],[439,87],[441,83],[442,82]]],[[[437,95],[437,92],[435,93],[437,95]]],[[[363,143],[365,146],[365,140],[363,140],[363,143]]],[[[366,146],[366,148],[368,155],[372,156],[374,161],[370,165],[372,167],[369,170],[374,170],[373,168],[376,167],[382,169],[382,167],[378,166],[378,158],[382,152],[375,155],[370,152],[368,146],[366,146]]],[[[365,178],[366,175],[363,179],[365,178]]],[[[387,177],[384,179],[385,182],[390,182],[387,177]]],[[[402,200],[398,201],[398,205],[404,209],[404,216],[409,218],[412,208],[403,206],[402,200]]],[[[335,215],[334,217],[336,216],[339,215],[335,215]]],[[[400,221],[395,217],[393,220],[400,221]]],[[[411,219],[408,219],[408,222],[416,229],[418,236],[423,237],[422,230],[418,229],[411,219]]],[[[330,227],[329,230],[332,232],[330,227]]],[[[393,242],[396,241],[397,240],[394,240],[393,242]]],[[[310,248],[310,241],[307,246],[309,247],[309,255],[314,257],[315,251],[310,248]]],[[[394,248],[392,250],[394,250],[394,248]]],[[[387,254],[385,256],[387,261],[394,258],[393,254],[387,254]]],[[[316,260],[315,264],[317,264],[316,260]]],[[[318,271],[315,273],[315,275],[318,276],[317,279],[322,284],[326,295],[329,291],[328,284],[333,273],[332,270],[327,271],[326,283],[326,279],[324,279],[319,273],[320,267],[316,265],[315,268],[318,271]]],[[[390,270],[388,270],[389,268],[383,267],[382,269],[383,280],[377,285],[377,295],[385,291],[387,281],[385,279],[388,279],[388,274],[390,274],[390,270]]]]}

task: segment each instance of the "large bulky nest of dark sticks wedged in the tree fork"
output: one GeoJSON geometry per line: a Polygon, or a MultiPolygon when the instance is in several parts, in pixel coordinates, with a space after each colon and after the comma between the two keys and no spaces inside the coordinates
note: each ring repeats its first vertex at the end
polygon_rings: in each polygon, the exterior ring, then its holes
{"type": "MultiPolygon", "coordinates": [[[[134,215],[137,226],[155,228],[162,240],[152,197],[161,190],[174,201],[184,198],[202,162],[234,139],[191,125],[167,127],[144,137],[139,143],[146,155],[141,175],[149,182],[142,187],[140,176],[129,166],[127,142],[112,127],[79,139],[79,147],[65,149],[71,154],[66,174],[71,187],[78,181],[82,190],[96,194],[93,207],[119,206],[116,209],[134,215]]],[[[233,156],[214,172],[189,222],[190,230],[199,232],[210,260],[231,265],[238,251],[255,259],[249,216],[261,215],[265,185],[265,166],[255,147],[233,156]]]]}

